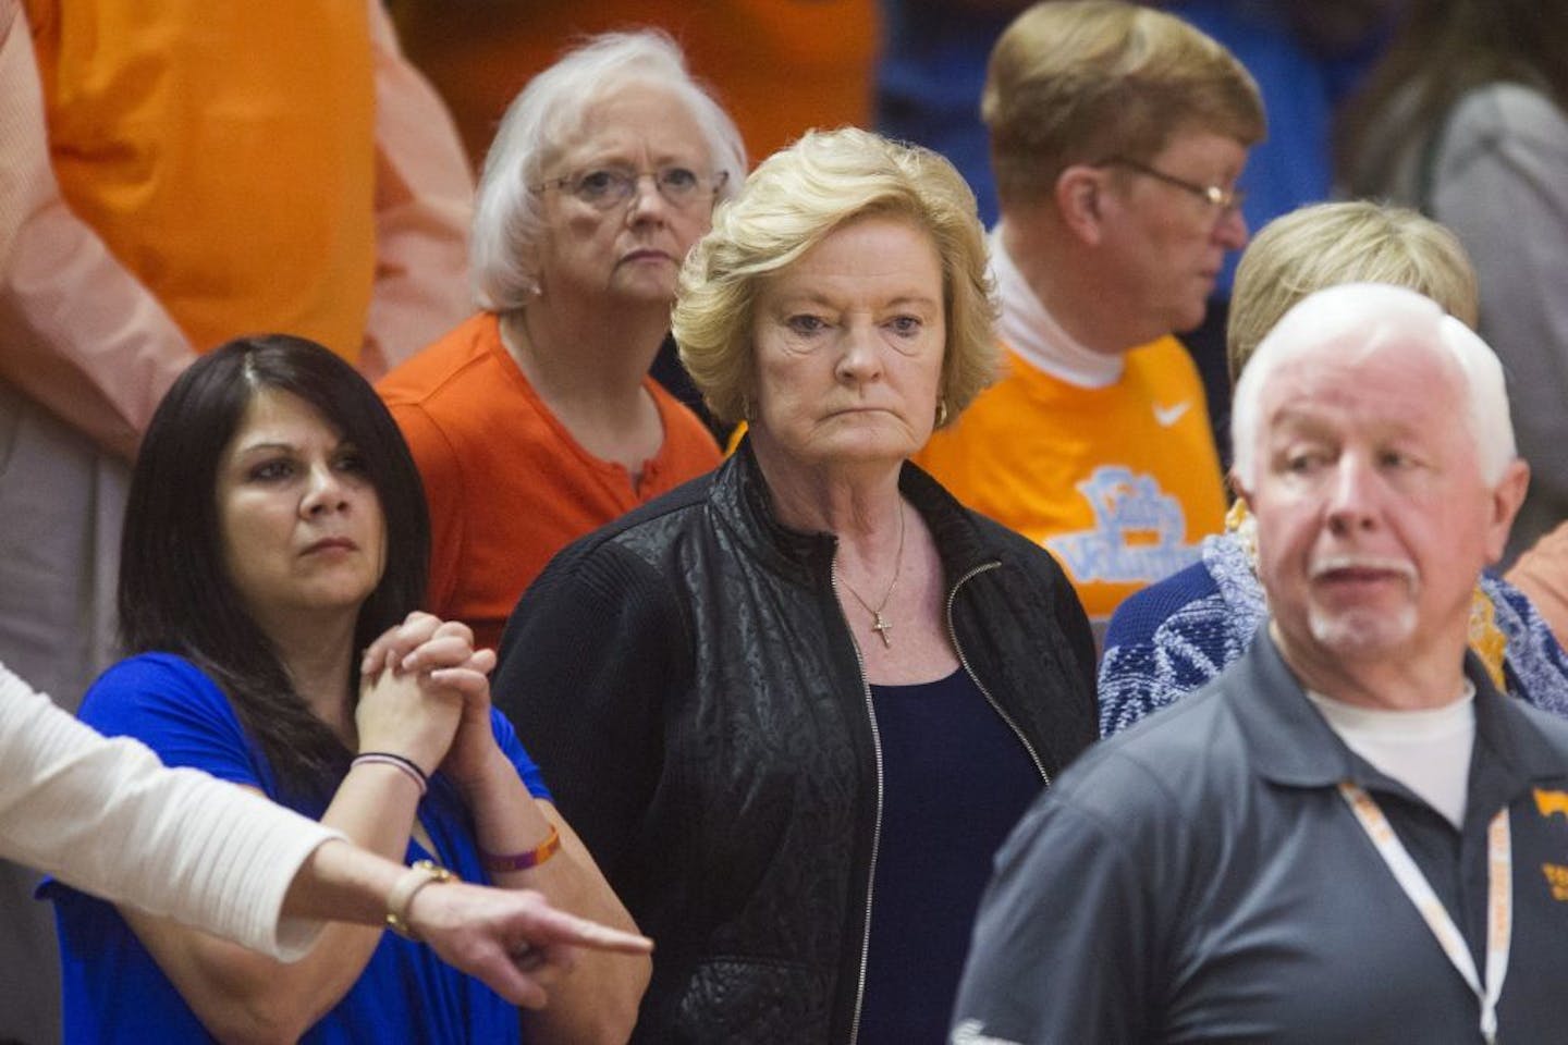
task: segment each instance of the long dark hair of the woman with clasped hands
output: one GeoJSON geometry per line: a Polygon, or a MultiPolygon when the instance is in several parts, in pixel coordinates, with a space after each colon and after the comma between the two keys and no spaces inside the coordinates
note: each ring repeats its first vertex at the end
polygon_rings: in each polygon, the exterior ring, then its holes
{"type": "MultiPolygon", "coordinates": [[[[136,456],[121,542],[127,652],[177,653],[210,674],[271,761],[281,788],[325,796],[350,752],[295,691],[224,567],[218,467],[263,389],[315,407],[364,459],[386,520],[386,569],[359,609],[356,650],[425,597],[430,517],[419,470],[370,384],[301,337],[245,337],[198,359],[158,404],[136,456]]],[[[358,658],[353,686],[358,692],[358,658]]]]}

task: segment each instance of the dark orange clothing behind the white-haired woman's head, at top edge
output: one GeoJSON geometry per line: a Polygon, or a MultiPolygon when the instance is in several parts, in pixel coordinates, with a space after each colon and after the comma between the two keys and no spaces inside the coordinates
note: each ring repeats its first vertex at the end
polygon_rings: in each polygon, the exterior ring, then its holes
{"type": "MultiPolygon", "coordinates": [[[[409,58],[447,99],[478,165],[528,80],[582,36],[660,27],[687,53],[753,161],[812,127],[870,125],[875,0],[394,0],[409,58]]],[[[978,102],[977,102],[978,103],[978,102]]]]}

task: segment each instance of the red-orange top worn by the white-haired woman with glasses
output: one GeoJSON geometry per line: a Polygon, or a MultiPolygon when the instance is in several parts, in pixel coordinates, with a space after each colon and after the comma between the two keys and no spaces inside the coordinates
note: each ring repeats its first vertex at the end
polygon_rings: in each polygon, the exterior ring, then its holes
{"type": "Polygon", "coordinates": [[[430,605],[495,647],[511,608],[572,539],[718,465],[691,410],[648,378],[665,442],[641,481],[583,450],[481,312],[378,385],[430,501],[430,605]]]}

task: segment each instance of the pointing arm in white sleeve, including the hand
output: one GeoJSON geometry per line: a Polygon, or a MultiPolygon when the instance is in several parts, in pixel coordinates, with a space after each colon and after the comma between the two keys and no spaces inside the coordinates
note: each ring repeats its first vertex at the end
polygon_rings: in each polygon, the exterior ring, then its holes
{"type": "MultiPolygon", "coordinates": [[[[100,736],[5,664],[0,766],[0,855],[271,957],[303,957],[326,920],[383,924],[408,873],[243,788],[168,769],[135,739],[100,736]]],[[[442,959],[530,1007],[544,1001],[535,962],[651,946],[533,891],[425,888],[408,915],[442,959]],[[513,960],[524,951],[528,971],[513,960]]]]}

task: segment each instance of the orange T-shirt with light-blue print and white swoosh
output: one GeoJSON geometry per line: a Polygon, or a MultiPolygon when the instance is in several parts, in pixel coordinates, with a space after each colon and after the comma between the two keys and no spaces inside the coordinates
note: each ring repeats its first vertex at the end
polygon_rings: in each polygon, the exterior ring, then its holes
{"type": "Polygon", "coordinates": [[[1055,555],[1104,630],[1123,598],[1196,561],[1225,525],[1203,382],[1173,337],[1127,353],[1102,389],[1011,351],[1007,365],[914,461],[1055,555]]]}

